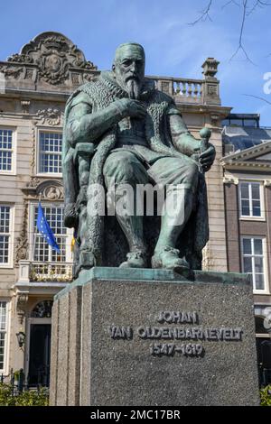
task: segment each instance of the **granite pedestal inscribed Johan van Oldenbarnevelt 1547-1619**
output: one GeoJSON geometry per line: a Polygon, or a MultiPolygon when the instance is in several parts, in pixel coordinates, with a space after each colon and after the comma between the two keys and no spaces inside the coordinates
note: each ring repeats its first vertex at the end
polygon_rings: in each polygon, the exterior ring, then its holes
{"type": "Polygon", "coordinates": [[[54,300],[51,405],[257,405],[247,276],[93,268],[54,300]]]}

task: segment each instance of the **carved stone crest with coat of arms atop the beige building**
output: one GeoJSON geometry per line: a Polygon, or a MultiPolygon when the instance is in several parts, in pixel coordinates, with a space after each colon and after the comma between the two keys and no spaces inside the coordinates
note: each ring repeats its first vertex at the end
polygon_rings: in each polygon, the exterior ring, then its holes
{"type": "MultiPolygon", "coordinates": [[[[85,59],[83,52],[59,32],[42,32],[25,44],[20,53],[8,58],[7,62],[38,68],[39,78],[52,85],[70,78],[70,69],[97,70],[92,62],[85,59]]],[[[14,72],[9,67],[4,71],[14,72]]]]}

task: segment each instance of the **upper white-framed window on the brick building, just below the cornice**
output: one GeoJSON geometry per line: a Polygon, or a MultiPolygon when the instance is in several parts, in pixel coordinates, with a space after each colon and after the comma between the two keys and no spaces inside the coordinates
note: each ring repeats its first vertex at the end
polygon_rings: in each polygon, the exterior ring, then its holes
{"type": "Polygon", "coordinates": [[[262,187],[259,182],[240,182],[240,217],[263,218],[262,187]]]}

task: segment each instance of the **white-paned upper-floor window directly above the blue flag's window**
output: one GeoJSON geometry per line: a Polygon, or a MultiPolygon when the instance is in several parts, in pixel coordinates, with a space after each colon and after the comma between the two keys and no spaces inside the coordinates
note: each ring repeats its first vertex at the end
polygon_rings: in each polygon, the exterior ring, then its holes
{"type": "Polygon", "coordinates": [[[39,172],[60,174],[62,134],[39,132],[39,172]]]}

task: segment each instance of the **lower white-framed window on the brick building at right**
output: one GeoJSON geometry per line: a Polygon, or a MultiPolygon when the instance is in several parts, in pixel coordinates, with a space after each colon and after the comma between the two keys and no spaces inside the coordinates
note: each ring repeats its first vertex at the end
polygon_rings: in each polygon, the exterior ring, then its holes
{"type": "Polygon", "coordinates": [[[242,237],[243,272],[250,276],[253,290],[266,291],[265,239],[261,237],[242,237]]]}

